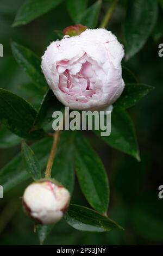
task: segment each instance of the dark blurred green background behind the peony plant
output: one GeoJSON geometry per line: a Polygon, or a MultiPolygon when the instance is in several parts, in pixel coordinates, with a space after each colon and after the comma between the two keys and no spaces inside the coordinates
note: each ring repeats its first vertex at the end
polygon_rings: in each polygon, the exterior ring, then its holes
{"type": "MultiPolygon", "coordinates": [[[[123,44],[123,23],[129,2],[120,0],[112,14],[107,29],[114,33],[123,44]]],[[[153,0],[153,2],[156,0],[153,0]]],[[[0,58],[1,87],[23,96],[36,108],[42,94],[33,86],[26,73],[18,66],[11,53],[10,42],[16,41],[42,56],[51,41],[57,40],[55,30],[73,25],[65,2],[30,22],[26,26],[11,28],[17,9],[23,0],[0,1],[0,43],[4,46],[4,57],[0,58]]],[[[95,1],[89,1],[91,6],[95,1]]],[[[103,1],[98,25],[103,20],[111,1],[103,1]]],[[[161,3],[161,1],[160,1],[161,3]]],[[[141,10],[140,10],[141,11],[141,10]]],[[[109,217],[114,218],[125,231],[115,230],[108,233],[85,233],[73,229],[65,220],[57,223],[45,244],[52,245],[141,245],[161,244],[163,242],[163,199],[158,198],[158,187],[162,185],[162,64],[158,56],[158,45],[163,43],[163,10],[158,11],[158,20],[145,46],[133,58],[123,60],[123,65],[134,72],[137,80],[154,86],[155,89],[145,99],[130,109],[136,126],[140,146],[141,162],[111,149],[93,133],[87,133],[93,148],[101,157],[110,180],[109,217]]],[[[0,167],[3,167],[20,151],[20,145],[8,148],[3,138],[10,137],[1,125],[0,167]]],[[[10,136],[14,136],[11,135],[10,136]]],[[[17,137],[15,136],[15,139],[17,137]]],[[[13,141],[13,138],[12,138],[13,141]]],[[[0,199],[0,244],[31,245],[38,244],[33,230],[33,222],[22,211],[21,196],[24,182],[4,194],[0,199]],[[14,199],[13,199],[14,198],[14,199]]],[[[0,181],[1,184],[1,181],[0,181]]],[[[87,206],[76,180],[72,202],[87,206]]]]}

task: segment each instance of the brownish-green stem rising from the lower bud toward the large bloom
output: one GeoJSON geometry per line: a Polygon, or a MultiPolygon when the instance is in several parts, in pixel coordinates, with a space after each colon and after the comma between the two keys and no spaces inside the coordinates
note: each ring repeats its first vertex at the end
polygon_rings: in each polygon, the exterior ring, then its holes
{"type": "Polygon", "coordinates": [[[51,177],[52,166],[53,166],[55,154],[57,151],[57,145],[58,145],[60,133],[61,133],[61,131],[59,129],[54,132],[52,149],[51,149],[51,153],[49,155],[49,159],[48,159],[47,167],[46,167],[46,171],[45,171],[45,178],[51,177]]]}

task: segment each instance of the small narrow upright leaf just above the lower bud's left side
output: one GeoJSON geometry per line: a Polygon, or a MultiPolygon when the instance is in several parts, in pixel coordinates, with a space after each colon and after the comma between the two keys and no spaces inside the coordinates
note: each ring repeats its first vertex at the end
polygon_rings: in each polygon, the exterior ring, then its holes
{"type": "Polygon", "coordinates": [[[30,176],[32,176],[34,180],[41,179],[41,169],[39,166],[39,162],[36,159],[33,150],[24,141],[22,142],[22,158],[24,162],[24,167],[26,168],[30,176]]]}

